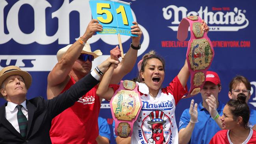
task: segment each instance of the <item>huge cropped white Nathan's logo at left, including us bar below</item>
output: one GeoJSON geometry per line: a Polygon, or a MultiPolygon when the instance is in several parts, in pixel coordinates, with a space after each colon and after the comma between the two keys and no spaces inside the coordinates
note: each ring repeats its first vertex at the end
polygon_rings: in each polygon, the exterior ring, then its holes
{"type": "MultiPolygon", "coordinates": [[[[92,19],[89,0],[62,0],[58,1],[58,3],[60,4],[56,4],[55,1],[48,2],[47,0],[18,0],[17,2],[0,0],[0,44],[10,43],[10,47],[13,41],[21,45],[33,44],[34,42],[39,45],[70,44],[72,41],[78,40],[92,19]],[[24,11],[27,13],[24,13],[24,11]],[[79,18],[70,17],[70,13],[74,12],[79,14],[79,18]],[[30,17],[32,20],[23,20],[21,17],[24,16],[30,17]],[[76,27],[70,27],[70,21],[75,23],[76,27]],[[53,24],[54,22],[56,24],[53,24]],[[22,29],[22,26],[27,24],[33,25],[32,31],[25,32],[22,29]],[[71,29],[72,31],[79,31],[76,39],[71,38],[71,29]]],[[[132,15],[134,21],[137,21],[134,11],[132,11],[132,15]]],[[[137,56],[147,50],[150,41],[148,31],[140,24],[139,27],[143,31],[143,40],[137,56]]],[[[115,30],[109,29],[104,29],[104,31],[115,32],[115,30]]],[[[119,32],[128,33],[127,31],[119,32]]],[[[122,43],[131,41],[130,36],[121,35],[121,38],[122,43]]],[[[115,39],[117,39],[117,35],[93,35],[87,42],[93,44],[100,40],[111,46],[116,46],[119,42],[115,41],[115,39]]],[[[30,46],[28,45],[28,47],[30,46]]],[[[109,56],[102,55],[95,59],[92,68],[95,68],[109,56]]],[[[15,65],[26,68],[24,69],[26,71],[50,71],[58,62],[56,53],[53,55],[18,55],[19,59],[17,55],[0,55],[0,57],[2,60],[1,67],[16,63],[15,65]],[[44,63],[49,65],[43,65],[44,63]]]]}

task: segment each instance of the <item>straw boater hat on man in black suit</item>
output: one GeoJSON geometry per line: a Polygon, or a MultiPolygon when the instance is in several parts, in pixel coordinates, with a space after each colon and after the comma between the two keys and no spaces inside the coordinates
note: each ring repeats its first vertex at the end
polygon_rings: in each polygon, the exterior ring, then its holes
{"type": "MultiPolygon", "coordinates": [[[[0,85],[8,78],[9,76],[12,75],[19,75],[24,79],[24,83],[26,85],[26,88],[28,89],[32,83],[32,77],[31,75],[26,72],[21,70],[18,66],[6,66],[0,71],[0,85]]],[[[0,93],[0,97],[3,97],[3,95],[0,93]]]]}

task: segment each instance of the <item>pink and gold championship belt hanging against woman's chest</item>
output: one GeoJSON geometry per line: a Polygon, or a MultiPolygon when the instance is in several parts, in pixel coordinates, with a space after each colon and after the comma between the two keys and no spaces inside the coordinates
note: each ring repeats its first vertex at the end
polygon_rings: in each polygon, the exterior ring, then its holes
{"type": "Polygon", "coordinates": [[[141,97],[134,81],[121,81],[110,101],[110,108],[115,120],[115,134],[119,137],[131,137],[134,122],[141,111],[141,97]]]}

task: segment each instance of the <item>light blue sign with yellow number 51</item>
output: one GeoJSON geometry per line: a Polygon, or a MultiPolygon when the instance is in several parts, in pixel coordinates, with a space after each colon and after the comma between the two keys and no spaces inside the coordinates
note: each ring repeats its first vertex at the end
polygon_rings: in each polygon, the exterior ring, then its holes
{"type": "Polygon", "coordinates": [[[90,0],[91,13],[103,26],[97,34],[118,34],[137,37],[131,33],[132,11],[130,3],[120,0],[90,0]]]}

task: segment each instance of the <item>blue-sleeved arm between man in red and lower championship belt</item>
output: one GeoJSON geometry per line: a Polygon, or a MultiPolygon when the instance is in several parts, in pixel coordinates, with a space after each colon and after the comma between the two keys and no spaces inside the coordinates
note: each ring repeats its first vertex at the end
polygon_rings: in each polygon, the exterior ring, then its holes
{"type": "Polygon", "coordinates": [[[109,144],[110,142],[110,129],[108,122],[105,118],[98,117],[99,135],[96,138],[98,144],[109,144]]]}

